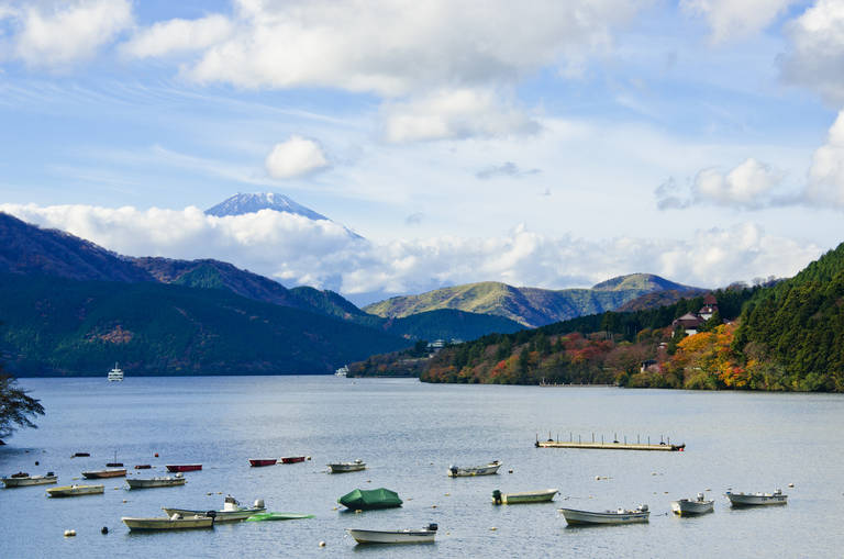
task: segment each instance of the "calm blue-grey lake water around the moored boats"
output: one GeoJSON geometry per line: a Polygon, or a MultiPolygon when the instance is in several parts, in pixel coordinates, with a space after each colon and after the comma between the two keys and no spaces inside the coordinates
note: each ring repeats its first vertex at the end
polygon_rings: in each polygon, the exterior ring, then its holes
{"type": "MultiPolygon", "coordinates": [[[[432,385],[411,379],[207,377],[22,379],[47,415],[0,447],[0,472],[53,470],[69,484],[114,459],[127,467],[201,462],[180,488],[47,499],[47,487],[0,490],[0,555],[29,557],[841,557],[844,396],[614,388],[432,385]],[[648,435],[685,452],[537,449],[536,434],[648,435]],[[70,458],[88,451],[90,458],[70,458]],[[159,458],[154,454],[158,452],[159,458]],[[311,461],[249,468],[248,458],[311,461]],[[364,459],[364,472],[325,463],[364,459]],[[499,476],[451,479],[449,465],[498,459],[499,476]],[[41,466],[35,466],[35,460],[41,466]],[[512,473],[508,470],[512,469],[512,473]],[[609,479],[596,480],[596,477],[609,479]],[[788,488],[793,483],[793,488],[788,488]],[[386,487],[401,508],[349,514],[336,500],[386,487]],[[553,503],[493,506],[491,493],[557,488],[553,503]],[[731,510],[723,493],[773,491],[787,506],[731,510]],[[714,514],[677,518],[669,503],[699,491],[714,514]],[[269,511],[314,514],[213,530],[130,534],[121,516],[162,506],[221,508],[230,493],[269,511]],[[649,505],[651,523],[567,528],[560,506],[649,505]],[[422,527],[434,545],[356,546],[346,527],[422,527]],[[108,526],[110,533],[101,535],[108,526]],[[67,528],[75,538],[65,538],[67,528]],[[492,529],[496,528],[496,529],[492,529]],[[325,547],[319,547],[325,541],[325,547]]],[[[134,472],[134,470],[132,470],[134,472]]],[[[152,473],[151,473],[152,472],[152,473]]],[[[96,481],[93,481],[96,483],[96,481]]]]}

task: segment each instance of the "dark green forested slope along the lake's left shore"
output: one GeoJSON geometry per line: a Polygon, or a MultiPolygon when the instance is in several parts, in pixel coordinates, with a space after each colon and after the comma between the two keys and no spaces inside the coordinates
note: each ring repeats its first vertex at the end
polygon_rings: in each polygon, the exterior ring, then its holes
{"type": "Polygon", "coordinates": [[[298,309],[152,282],[0,275],[0,351],[19,376],[324,373],[410,345],[298,309]]]}

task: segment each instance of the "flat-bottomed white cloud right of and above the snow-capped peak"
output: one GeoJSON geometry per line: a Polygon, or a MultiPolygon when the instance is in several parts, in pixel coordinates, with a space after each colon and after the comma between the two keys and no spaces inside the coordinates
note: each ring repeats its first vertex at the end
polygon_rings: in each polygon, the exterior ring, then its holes
{"type": "Polygon", "coordinates": [[[384,135],[393,143],[532,134],[538,128],[489,90],[441,90],[385,108],[384,135]]]}

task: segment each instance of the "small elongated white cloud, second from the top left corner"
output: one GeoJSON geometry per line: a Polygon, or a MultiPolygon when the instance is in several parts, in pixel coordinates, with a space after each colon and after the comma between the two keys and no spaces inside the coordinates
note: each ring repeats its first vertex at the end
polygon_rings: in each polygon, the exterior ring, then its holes
{"type": "Polygon", "coordinates": [[[199,20],[168,20],[141,30],[121,48],[136,58],[201,51],[225,40],[231,31],[232,22],[220,14],[199,20]]]}

